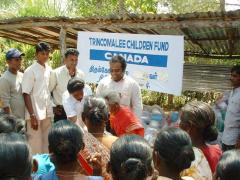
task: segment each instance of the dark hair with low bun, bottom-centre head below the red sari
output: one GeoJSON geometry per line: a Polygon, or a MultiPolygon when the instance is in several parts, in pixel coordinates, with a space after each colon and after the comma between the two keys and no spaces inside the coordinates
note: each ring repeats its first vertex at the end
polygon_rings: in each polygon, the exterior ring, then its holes
{"type": "Polygon", "coordinates": [[[112,145],[110,166],[114,180],[143,180],[152,170],[151,162],[151,148],[140,136],[122,136],[112,145]]]}

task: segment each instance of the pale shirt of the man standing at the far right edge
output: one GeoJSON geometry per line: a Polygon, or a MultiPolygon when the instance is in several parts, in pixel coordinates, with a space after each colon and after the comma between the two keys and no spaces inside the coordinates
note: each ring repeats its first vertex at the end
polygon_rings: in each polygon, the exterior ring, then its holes
{"type": "Polygon", "coordinates": [[[231,91],[224,120],[222,142],[235,145],[240,138],[240,87],[231,91]]]}

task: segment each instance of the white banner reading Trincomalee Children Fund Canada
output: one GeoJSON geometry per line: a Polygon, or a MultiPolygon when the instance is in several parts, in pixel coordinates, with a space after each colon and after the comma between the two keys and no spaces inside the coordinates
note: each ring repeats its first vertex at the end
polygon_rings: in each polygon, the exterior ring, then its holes
{"type": "Polygon", "coordinates": [[[142,89],[180,95],[182,91],[183,36],[78,32],[78,68],[85,80],[98,83],[109,75],[108,61],[121,55],[126,73],[142,89]]]}

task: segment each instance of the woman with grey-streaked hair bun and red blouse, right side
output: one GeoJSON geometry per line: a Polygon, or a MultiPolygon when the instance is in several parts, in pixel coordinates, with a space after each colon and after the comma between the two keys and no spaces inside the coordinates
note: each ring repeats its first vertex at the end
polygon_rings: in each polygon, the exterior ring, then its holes
{"type": "Polygon", "coordinates": [[[216,140],[218,136],[214,111],[204,102],[193,101],[182,108],[180,119],[180,128],[190,135],[193,146],[202,150],[214,173],[222,154],[219,145],[207,143],[216,140]]]}

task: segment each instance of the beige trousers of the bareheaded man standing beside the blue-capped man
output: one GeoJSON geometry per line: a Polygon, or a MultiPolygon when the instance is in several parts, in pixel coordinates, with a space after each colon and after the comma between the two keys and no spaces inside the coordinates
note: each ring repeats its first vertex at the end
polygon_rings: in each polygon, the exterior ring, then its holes
{"type": "Polygon", "coordinates": [[[32,154],[48,153],[48,133],[51,128],[51,118],[38,121],[38,130],[31,128],[31,121],[27,120],[28,143],[32,154]]]}

